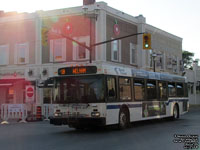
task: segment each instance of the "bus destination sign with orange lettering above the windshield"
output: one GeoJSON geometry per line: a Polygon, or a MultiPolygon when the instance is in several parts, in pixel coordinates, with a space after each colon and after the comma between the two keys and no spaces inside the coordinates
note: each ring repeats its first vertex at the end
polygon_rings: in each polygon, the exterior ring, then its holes
{"type": "Polygon", "coordinates": [[[96,66],[66,67],[58,69],[58,75],[80,75],[95,73],[97,73],[96,66]]]}

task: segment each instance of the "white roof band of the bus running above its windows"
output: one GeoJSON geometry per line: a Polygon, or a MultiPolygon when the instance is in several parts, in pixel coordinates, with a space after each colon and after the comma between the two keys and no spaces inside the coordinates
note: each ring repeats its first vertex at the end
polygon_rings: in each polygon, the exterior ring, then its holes
{"type": "Polygon", "coordinates": [[[142,69],[136,69],[131,66],[127,65],[121,65],[121,64],[109,64],[109,63],[92,63],[92,64],[87,64],[84,66],[75,66],[75,67],[64,67],[60,68],[65,69],[65,68],[73,68],[73,69],[82,69],[82,68],[92,68],[93,70],[94,67],[96,67],[95,72],[79,72],[76,74],[64,74],[64,75],[59,75],[57,77],[66,77],[66,76],[79,76],[79,75],[94,75],[94,74],[105,74],[105,75],[116,75],[116,76],[126,76],[126,77],[135,77],[135,78],[145,78],[145,79],[155,79],[155,80],[164,80],[164,81],[169,81],[169,82],[186,82],[186,77],[179,76],[179,75],[173,75],[169,73],[160,73],[160,72],[151,72],[151,71],[146,71],[142,69]]]}

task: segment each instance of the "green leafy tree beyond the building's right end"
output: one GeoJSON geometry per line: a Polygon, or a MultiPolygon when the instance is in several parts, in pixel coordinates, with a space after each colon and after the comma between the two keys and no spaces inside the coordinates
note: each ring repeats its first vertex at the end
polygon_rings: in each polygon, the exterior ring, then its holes
{"type": "Polygon", "coordinates": [[[188,52],[188,51],[183,51],[182,57],[183,57],[184,68],[185,69],[192,69],[193,68],[192,63],[193,63],[194,53],[188,52]]]}

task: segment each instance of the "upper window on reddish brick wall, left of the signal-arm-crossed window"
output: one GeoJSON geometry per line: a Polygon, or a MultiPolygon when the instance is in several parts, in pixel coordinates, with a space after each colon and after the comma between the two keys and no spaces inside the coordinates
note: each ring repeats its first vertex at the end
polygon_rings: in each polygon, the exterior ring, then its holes
{"type": "Polygon", "coordinates": [[[66,61],[66,39],[50,40],[50,62],[66,61]]]}

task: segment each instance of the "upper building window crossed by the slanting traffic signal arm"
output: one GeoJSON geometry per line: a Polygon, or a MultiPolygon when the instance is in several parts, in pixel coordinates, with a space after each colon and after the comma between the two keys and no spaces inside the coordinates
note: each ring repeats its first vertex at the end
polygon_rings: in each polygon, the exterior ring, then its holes
{"type": "MultiPolygon", "coordinates": [[[[74,40],[77,40],[85,46],[89,46],[90,37],[75,37],[74,40]]],[[[73,60],[88,60],[89,59],[89,50],[75,42],[73,42],[73,60]]]]}

